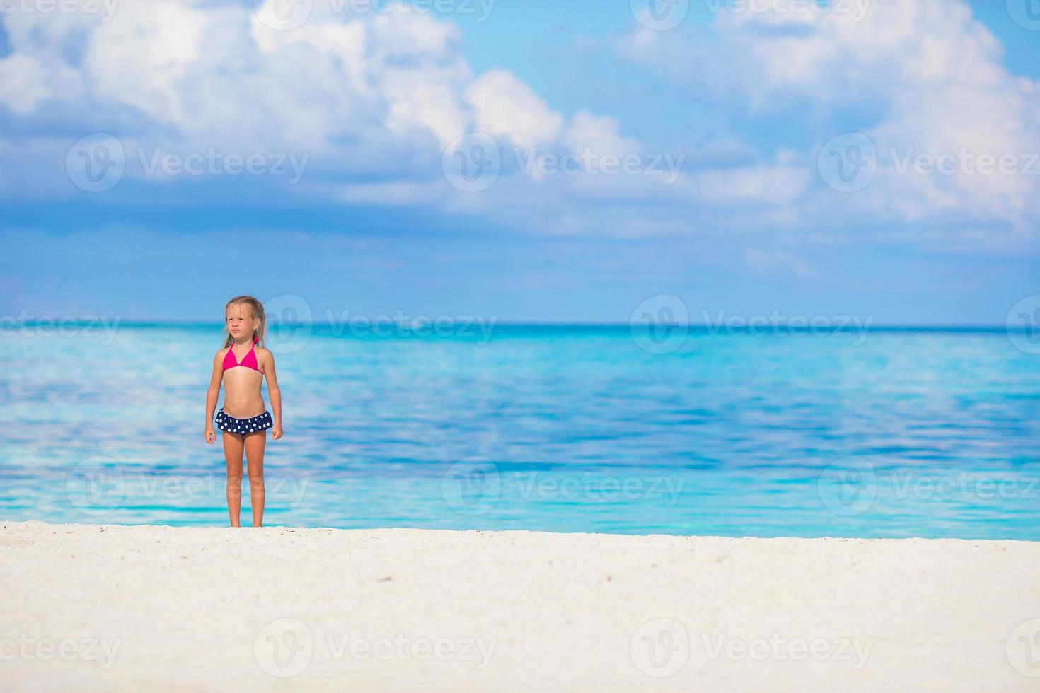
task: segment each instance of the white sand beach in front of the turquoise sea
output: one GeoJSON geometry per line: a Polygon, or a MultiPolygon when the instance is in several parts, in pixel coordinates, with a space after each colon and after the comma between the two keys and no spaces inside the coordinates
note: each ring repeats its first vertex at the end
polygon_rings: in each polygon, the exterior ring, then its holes
{"type": "Polygon", "coordinates": [[[3,690],[1040,688],[1034,542],[30,522],[0,553],[3,690]]]}

